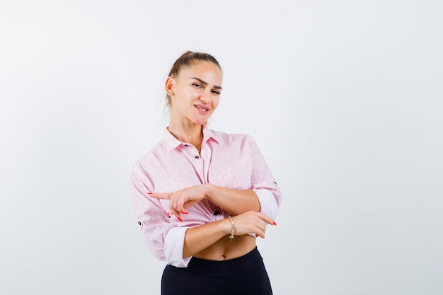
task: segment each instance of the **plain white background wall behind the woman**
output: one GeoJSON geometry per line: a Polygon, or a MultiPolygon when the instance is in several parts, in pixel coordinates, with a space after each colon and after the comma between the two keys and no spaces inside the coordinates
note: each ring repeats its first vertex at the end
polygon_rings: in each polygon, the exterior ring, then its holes
{"type": "Polygon", "coordinates": [[[440,0],[1,0],[0,294],[159,294],[127,183],[185,50],[284,192],[276,295],[443,294],[440,0]]]}

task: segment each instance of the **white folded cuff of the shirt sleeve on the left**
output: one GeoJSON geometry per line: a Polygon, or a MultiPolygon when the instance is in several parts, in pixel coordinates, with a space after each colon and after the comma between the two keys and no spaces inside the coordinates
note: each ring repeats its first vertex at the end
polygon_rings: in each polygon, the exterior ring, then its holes
{"type": "Polygon", "coordinates": [[[187,227],[173,227],[165,238],[165,257],[168,265],[187,267],[192,256],[183,259],[183,245],[187,227]]]}

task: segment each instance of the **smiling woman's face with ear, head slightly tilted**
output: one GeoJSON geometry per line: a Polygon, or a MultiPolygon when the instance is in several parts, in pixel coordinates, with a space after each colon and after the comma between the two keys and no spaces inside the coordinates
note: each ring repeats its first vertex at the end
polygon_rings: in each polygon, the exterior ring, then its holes
{"type": "Polygon", "coordinates": [[[171,120],[203,125],[217,108],[222,93],[222,71],[212,62],[198,62],[166,80],[171,96],[171,120]]]}

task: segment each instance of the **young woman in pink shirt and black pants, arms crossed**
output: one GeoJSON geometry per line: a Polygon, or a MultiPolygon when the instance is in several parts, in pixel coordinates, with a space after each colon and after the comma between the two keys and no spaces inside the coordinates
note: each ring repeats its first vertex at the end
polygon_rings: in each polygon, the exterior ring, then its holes
{"type": "Polygon", "coordinates": [[[165,88],[169,126],[130,175],[139,229],[167,262],[161,294],[272,294],[255,238],[276,225],[282,195],[251,137],[206,126],[222,93],[219,63],[185,52],[165,88]]]}

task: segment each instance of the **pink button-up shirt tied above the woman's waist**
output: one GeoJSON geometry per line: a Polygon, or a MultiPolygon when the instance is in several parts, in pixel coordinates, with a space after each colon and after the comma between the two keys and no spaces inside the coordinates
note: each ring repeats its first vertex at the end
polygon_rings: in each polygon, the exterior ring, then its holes
{"type": "Polygon", "coordinates": [[[175,192],[192,185],[211,183],[237,190],[253,190],[261,212],[275,219],[282,195],[255,141],[246,134],[226,134],[203,127],[201,156],[192,144],[178,141],[166,129],[163,140],[134,164],[130,195],[134,213],[149,250],[159,260],[186,267],[183,259],[185,231],[193,226],[229,216],[207,199],[188,208],[183,222],[169,217],[169,200],[148,192],[175,192]]]}

